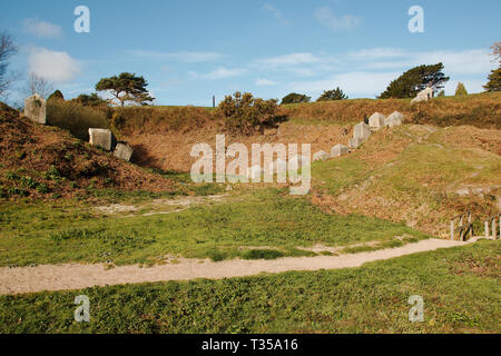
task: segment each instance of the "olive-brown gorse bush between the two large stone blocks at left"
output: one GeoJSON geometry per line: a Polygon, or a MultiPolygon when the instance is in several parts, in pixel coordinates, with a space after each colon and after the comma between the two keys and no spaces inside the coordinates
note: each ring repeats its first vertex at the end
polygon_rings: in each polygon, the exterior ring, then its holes
{"type": "Polygon", "coordinates": [[[47,121],[66,129],[81,140],[89,140],[89,128],[109,128],[105,110],[85,107],[76,101],[50,100],[47,102],[47,121]]]}

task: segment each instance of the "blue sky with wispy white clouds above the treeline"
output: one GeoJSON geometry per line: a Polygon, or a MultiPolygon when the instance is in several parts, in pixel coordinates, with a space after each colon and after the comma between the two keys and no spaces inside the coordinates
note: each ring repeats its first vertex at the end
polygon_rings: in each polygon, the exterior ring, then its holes
{"type": "Polygon", "coordinates": [[[316,99],[341,87],[374,98],[406,69],[439,61],[448,95],[458,81],[480,92],[497,66],[489,52],[501,40],[499,13],[498,0],[18,0],[2,1],[0,30],[20,46],[13,67],[67,98],[129,71],[148,80],[157,105],[210,106],[213,95],[236,90],[316,99]],[[73,30],[81,4],[90,33],[73,30]],[[424,10],[423,33],[407,29],[412,6],[424,10]]]}

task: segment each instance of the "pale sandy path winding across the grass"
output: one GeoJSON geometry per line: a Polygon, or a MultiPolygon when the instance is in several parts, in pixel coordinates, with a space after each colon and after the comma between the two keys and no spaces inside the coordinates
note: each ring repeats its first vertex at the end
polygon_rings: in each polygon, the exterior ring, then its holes
{"type": "Polygon", "coordinates": [[[121,266],[106,269],[102,265],[43,265],[36,267],[0,268],[0,295],[43,290],[81,289],[92,286],[188,280],[195,278],[222,279],[261,273],[287,270],[318,270],[360,267],[365,263],[390,259],[422,251],[463,246],[469,243],[428,239],[399,248],[342,256],[288,257],[276,260],[233,259],[220,263],[199,259],[179,259],[179,264],[140,268],[121,266]]]}

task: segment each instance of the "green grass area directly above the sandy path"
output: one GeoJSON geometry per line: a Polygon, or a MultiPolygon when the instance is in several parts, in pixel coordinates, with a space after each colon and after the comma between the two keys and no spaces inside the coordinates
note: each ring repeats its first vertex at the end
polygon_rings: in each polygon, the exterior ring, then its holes
{"type": "Polygon", "coordinates": [[[85,204],[60,200],[0,206],[0,266],[70,261],[150,265],[166,255],[222,260],[258,254],[246,253],[240,248],[245,246],[275,247],[284,256],[310,256],[312,253],[296,247],[387,243],[404,235],[428,238],[402,224],[327,215],[303,198],[288,196],[288,189],[263,189],[225,202],[151,216],[107,216],[85,204]]]}

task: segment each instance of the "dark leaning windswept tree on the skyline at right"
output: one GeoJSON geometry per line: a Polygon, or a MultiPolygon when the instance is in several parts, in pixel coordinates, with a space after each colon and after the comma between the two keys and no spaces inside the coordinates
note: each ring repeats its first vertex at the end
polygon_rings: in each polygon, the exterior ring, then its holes
{"type": "Polygon", "coordinates": [[[435,91],[441,90],[450,79],[442,70],[442,63],[414,67],[393,80],[379,98],[414,98],[426,87],[431,87],[435,91]]]}

